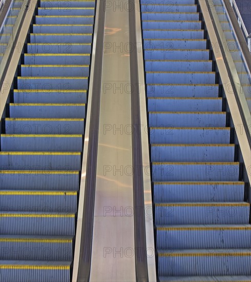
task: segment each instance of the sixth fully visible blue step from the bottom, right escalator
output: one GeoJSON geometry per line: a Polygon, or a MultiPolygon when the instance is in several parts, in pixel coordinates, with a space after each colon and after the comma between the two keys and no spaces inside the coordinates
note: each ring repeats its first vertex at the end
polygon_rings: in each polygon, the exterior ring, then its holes
{"type": "Polygon", "coordinates": [[[152,162],[234,162],[234,144],[152,144],[152,162]]]}

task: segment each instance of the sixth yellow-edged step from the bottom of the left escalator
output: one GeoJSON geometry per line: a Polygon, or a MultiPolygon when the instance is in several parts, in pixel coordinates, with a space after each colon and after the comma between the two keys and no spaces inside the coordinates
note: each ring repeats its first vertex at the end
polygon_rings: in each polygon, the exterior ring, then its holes
{"type": "Polygon", "coordinates": [[[0,152],[0,170],[81,170],[80,152],[0,152]]]}

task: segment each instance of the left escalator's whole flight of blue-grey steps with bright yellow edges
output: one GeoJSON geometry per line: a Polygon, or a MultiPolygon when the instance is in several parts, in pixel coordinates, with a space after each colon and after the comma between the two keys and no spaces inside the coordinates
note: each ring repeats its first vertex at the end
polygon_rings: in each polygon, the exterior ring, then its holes
{"type": "Polygon", "coordinates": [[[3,119],[0,281],[70,281],[95,1],[36,9],[3,119]]]}

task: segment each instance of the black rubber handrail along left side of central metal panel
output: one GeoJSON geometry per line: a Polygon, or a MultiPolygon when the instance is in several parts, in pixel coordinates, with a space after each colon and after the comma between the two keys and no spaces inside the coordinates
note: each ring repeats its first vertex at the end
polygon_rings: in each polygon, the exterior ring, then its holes
{"type": "Polygon", "coordinates": [[[90,115],[90,135],[87,155],[85,202],[83,205],[80,255],[77,274],[78,282],[89,281],[92,259],[92,237],[97,170],[99,105],[101,92],[105,13],[103,7],[105,7],[106,5],[106,0],[103,0],[102,4],[103,5],[99,5],[98,14],[98,31],[94,63],[94,82],[92,86],[92,105],[90,115]]]}

